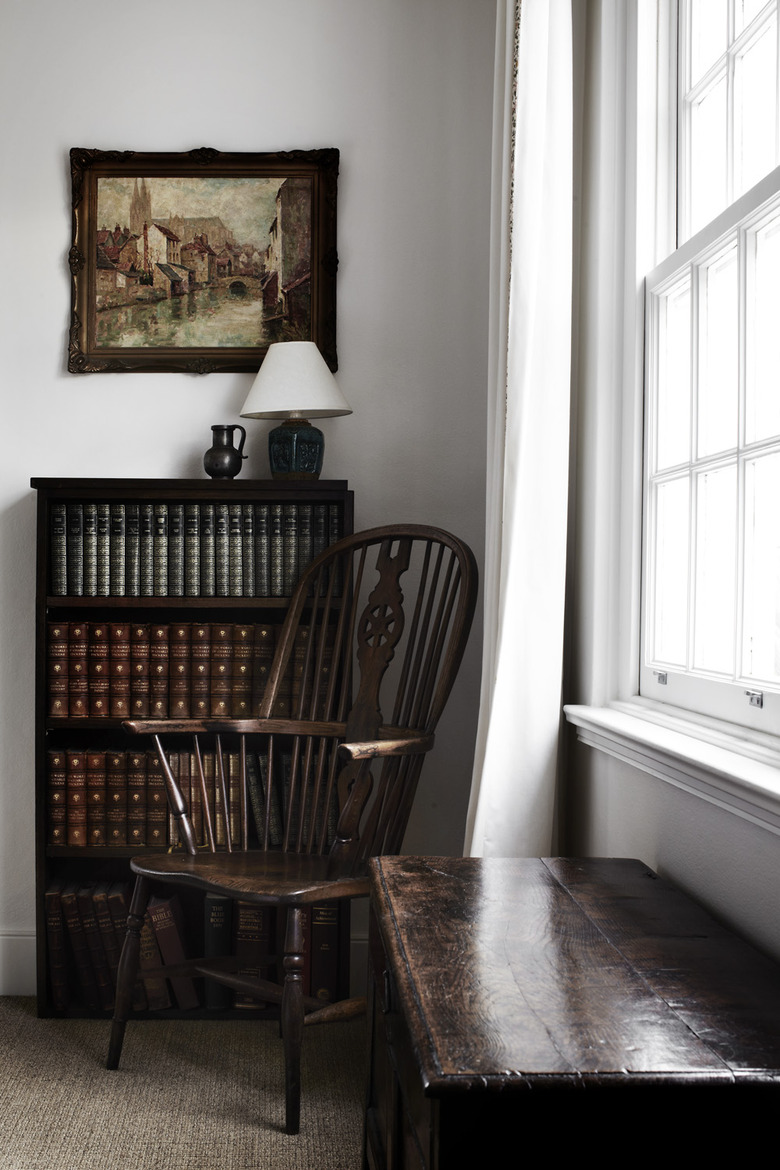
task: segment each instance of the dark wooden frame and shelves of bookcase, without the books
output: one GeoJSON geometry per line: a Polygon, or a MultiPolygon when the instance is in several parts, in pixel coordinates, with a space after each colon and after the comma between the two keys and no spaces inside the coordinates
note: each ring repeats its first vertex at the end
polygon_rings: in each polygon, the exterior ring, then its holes
{"type": "MultiPolygon", "coordinates": [[[[78,998],[77,980],[70,978],[71,1000],[62,1010],[53,1002],[50,964],[47,940],[46,892],[56,880],[67,881],[127,881],[130,882],[130,858],[138,847],[68,846],[48,841],[47,801],[47,752],[49,749],[64,751],[77,748],[87,751],[131,751],[138,741],[131,739],[118,717],[101,716],[53,716],[49,714],[47,677],[47,635],[53,621],[132,621],[139,622],[256,622],[281,625],[288,606],[287,597],[127,597],[127,596],[68,596],[51,587],[51,509],[55,504],[119,504],[119,503],[241,503],[241,504],[326,504],[338,510],[340,535],[353,531],[353,493],[343,480],[88,480],[88,479],[33,479],[30,486],[37,493],[37,570],[36,570],[36,651],[35,651],[35,818],[36,818],[36,934],[37,934],[37,1011],[40,1016],[65,1014],[77,1017],[105,1016],[94,1012],[78,998]]],[[[299,565],[299,567],[303,567],[299,565]]],[[[143,741],[145,742],[145,739],[143,741]]],[[[150,741],[151,744],[151,741],[150,741]]],[[[150,848],[149,846],[141,848],[150,848]]],[[[186,907],[189,918],[198,911],[186,907]]],[[[343,945],[348,947],[348,937],[343,945]]],[[[110,1014],[110,1013],[109,1013],[110,1014]]],[[[179,1012],[166,1009],[153,1013],[171,1017],[179,1012]]],[[[187,1011],[209,1019],[235,1016],[246,1018],[246,1009],[214,1011],[195,1009],[187,1011]]],[[[263,1010],[249,1014],[262,1016],[263,1010]]]]}

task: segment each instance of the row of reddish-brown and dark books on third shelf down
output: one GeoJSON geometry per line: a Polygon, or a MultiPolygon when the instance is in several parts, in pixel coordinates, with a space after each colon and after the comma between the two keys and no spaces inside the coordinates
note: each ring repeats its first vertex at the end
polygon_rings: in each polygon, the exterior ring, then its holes
{"type": "MultiPolygon", "coordinates": [[[[206,807],[195,752],[167,753],[171,770],[188,804],[195,842],[208,844],[207,825],[210,819],[218,848],[226,846],[228,832],[232,842],[239,844],[246,837],[248,844],[258,844],[264,837],[268,801],[269,845],[281,845],[282,808],[285,789],[289,791],[290,752],[281,751],[275,757],[274,783],[270,786],[268,757],[263,752],[246,753],[246,824],[239,751],[223,751],[221,769],[215,751],[202,751],[200,759],[206,807]],[[222,778],[227,792],[227,815],[222,778]]],[[[76,848],[165,848],[178,845],[178,831],[168,811],[165,777],[157,752],[49,749],[47,844],[76,848]]]]}

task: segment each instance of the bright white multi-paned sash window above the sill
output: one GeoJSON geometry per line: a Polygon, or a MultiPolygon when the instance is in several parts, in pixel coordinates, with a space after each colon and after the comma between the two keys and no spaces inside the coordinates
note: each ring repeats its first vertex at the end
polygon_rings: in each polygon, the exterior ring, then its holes
{"type": "Polygon", "coordinates": [[[780,728],[778,0],[679,0],[678,248],[647,280],[640,691],[780,728]]]}

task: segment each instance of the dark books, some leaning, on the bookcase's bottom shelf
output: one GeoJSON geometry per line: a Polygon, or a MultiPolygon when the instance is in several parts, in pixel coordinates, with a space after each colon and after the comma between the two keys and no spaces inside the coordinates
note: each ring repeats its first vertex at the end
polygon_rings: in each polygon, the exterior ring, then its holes
{"type": "MultiPolygon", "coordinates": [[[[53,881],[46,890],[46,929],[51,1003],[64,1012],[113,1009],[119,955],[126,931],[130,888],[124,881],[53,881]]],[[[237,971],[279,979],[282,918],[268,907],[206,895],[201,928],[185,922],[178,896],[153,897],[140,938],[140,978],[134,1011],[257,1009],[262,1000],[230,991],[210,979],[144,977],[160,964],[181,963],[196,955],[235,955],[237,971]],[[191,937],[195,935],[196,937],[191,937]]],[[[339,987],[339,907],[327,902],[304,916],[304,994],[323,1002],[339,987]]]]}

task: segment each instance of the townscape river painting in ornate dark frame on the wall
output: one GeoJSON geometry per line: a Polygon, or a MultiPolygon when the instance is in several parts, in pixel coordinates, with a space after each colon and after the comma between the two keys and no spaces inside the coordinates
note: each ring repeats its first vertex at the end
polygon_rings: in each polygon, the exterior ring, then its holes
{"type": "Polygon", "coordinates": [[[257,370],[336,356],[334,149],[70,151],[71,373],[257,370]]]}

